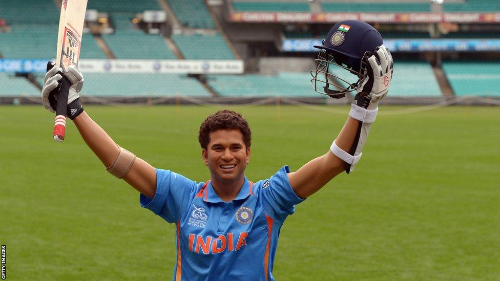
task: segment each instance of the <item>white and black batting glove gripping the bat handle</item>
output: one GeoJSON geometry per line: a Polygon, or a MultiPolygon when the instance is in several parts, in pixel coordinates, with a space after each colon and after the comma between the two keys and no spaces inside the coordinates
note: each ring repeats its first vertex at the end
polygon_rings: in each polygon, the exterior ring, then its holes
{"type": "MultiPolygon", "coordinates": [[[[63,78],[63,70],[56,66],[52,61],[47,64],[47,74],[44,78],[44,88],[41,90],[41,98],[45,109],[50,112],[55,112],[57,108],[57,95],[60,90],[60,79],[63,78]],[[50,69],[49,69],[50,68],[50,69]]],[[[81,100],[78,93],[84,85],[84,76],[74,66],[70,66],[68,71],[64,73],[66,78],[71,83],[68,93],[68,110],[66,116],[74,119],[84,111],[81,106],[81,100]]]]}

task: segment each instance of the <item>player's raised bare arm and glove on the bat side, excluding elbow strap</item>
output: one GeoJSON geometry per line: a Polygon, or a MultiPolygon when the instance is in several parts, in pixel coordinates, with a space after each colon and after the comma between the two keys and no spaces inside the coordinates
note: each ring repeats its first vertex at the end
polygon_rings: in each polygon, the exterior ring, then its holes
{"type": "MultiPolygon", "coordinates": [[[[58,80],[62,77],[60,69],[55,64],[49,62],[52,68],[47,72],[42,90],[42,98],[45,108],[54,112],[57,106],[58,80]]],[[[70,67],[65,76],[71,82],[70,93],[68,95],[67,116],[72,119],[80,132],[81,137],[92,149],[95,155],[101,160],[105,167],[116,164],[120,154],[119,146],[111,137],[84,111],[81,106],[78,92],[83,85],[83,76],[74,67],[70,67]]],[[[132,156],[131,154],[129,154],[132,156]]],[[[130,169],[122,177],[132,187],[145,196],[152,199],[156,193],[156,170],[144,160],[136,157],[130,169]]]]}

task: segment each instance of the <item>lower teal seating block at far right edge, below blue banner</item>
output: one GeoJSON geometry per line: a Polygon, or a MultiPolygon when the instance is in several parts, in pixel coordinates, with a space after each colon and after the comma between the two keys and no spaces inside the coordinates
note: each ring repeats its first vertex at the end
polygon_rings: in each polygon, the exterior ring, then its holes
{"type": "Polygon", "coordinates": [[[444,61],[456,96],[500,96],[500,61],[444,61]]]}

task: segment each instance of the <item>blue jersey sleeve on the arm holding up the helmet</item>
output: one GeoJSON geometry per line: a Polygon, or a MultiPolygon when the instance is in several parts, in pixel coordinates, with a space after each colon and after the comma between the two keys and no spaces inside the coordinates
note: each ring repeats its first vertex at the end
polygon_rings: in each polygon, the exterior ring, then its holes
{"type": "Polygon", "coordinates": [[[297,196],[288,181],[290,170],[283,166],[262,185],[264,208],[274,219],[283,222],[289,214],[295,212],[295,205],[305,199],[297,196]]]}

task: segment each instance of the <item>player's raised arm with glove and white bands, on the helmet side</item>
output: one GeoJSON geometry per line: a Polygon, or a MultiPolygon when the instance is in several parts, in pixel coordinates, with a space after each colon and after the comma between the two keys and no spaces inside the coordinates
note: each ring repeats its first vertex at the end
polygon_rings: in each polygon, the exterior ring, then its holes
{"type": "MultiPolygon", "coordinates": [[[[388,92],[392,77],[392,56],[384,46],[367,58],[366,76],[352,102],[349,117],[338,137],[324,155],[309,161],[288,180],[297,196],[307,198],[343,170],[353,171],[378,112],[379,101],[388,92]]],[[[326,149],[325,149],[326,150],[326,149]]]]}

